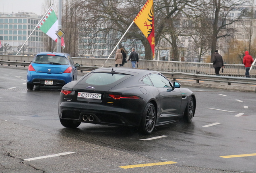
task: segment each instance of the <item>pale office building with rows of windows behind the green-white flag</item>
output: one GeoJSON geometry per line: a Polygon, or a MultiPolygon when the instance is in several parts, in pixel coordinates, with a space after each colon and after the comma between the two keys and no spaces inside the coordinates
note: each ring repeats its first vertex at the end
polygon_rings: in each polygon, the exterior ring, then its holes
{"type": "MultiPolygon", "coordinates": [[[[27,13],[0,13],[0,40],[2,44],[9,44],[13,47],[8,52],[3,52],[0,49],[0,54],[17,54],[18,46],[25,43],[33,29],[37,26],[42,16],[27,13]]],[[[33,36],[26,42],[29,45],[28,50],[24,52],[27,55],[35,55],[38,51],[45,51],[43,47],[43,38],[47,36],[36,28],[32,34],[33,36]]]]}

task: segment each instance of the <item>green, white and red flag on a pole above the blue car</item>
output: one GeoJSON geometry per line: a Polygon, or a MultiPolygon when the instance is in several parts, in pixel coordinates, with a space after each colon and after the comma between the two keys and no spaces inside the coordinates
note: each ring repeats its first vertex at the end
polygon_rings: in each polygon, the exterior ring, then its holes
{"type": "MultiPolygon", "coordinates": [[[[58,37],[56,35],[56,31],[58,30],[58,18],[52,8],[49,10],[41,24],[37,27],[57,42],[58,37]]],[[[62,48],[65,48],[63,37],[61,38],[61,46],[62,48]]]]}

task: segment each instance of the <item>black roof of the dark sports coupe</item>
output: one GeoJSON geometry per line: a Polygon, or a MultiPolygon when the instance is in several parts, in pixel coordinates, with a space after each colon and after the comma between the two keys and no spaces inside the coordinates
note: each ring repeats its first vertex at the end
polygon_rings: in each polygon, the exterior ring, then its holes
{"type": "MultiPolygon", "coordinates": [[[[131,74],[131,75],[146,75],[150,73],[159,73],[153,70],[145,70],[140,68],[125,68],[125,67],[107,67],[107,68],[98,68],[93,70],[93,72],[115,72],[115,73],[124,73],[124,74],[131,74]]],[[[160,73],[159,73],[160,74],[160,73]]]]}

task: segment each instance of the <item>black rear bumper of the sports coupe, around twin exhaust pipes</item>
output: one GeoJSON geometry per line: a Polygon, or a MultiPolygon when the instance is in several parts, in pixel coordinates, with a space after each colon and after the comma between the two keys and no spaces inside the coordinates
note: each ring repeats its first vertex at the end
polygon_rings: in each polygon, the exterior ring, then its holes
{"type": "Polygon", "coordinates": [[[113,108],[104,105],[62,102],[58,105],[58,113],[60,119],[72,119],[82,123],[138,127],[145,106],[141,105],[140,109],[135,110],[132,107],[113,108]],[[90,121],[89,116],[93,117],[93,121],[90,121]]]}

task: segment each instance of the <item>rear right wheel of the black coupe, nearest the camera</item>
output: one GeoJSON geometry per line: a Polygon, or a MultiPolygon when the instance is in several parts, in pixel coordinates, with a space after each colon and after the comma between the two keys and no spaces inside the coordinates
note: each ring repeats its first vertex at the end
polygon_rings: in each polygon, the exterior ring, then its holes
{"type": "Polygon", "coordinates": [[[156,119],[157,116],[154,105],[152,103],[147,104],[140,124],[140,130],[142,133],[150,135],[155,128],[156,119]]]}

